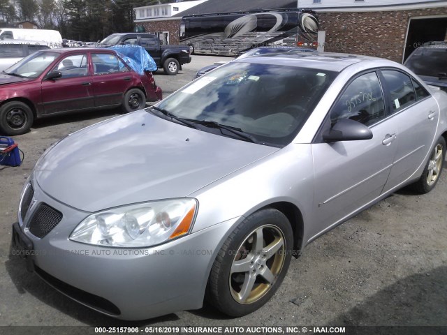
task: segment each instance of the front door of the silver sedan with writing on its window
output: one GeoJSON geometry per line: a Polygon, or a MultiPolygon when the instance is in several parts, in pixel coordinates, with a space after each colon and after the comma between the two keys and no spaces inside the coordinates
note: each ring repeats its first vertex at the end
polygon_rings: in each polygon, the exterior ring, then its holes
{"type": "Polygon", "coordinates": [[[376,72],[351,81],[330,111],[330,122],[353,119],[370,128],[371,140],[312,144],[314,223],[310,239],[381,195],[396,152],[397,129],[386,119],[376,72]]]}

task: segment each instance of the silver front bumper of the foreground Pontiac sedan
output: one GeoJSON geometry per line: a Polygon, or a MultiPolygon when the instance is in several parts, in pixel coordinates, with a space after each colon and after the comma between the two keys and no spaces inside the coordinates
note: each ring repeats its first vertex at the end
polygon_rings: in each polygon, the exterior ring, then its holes
{"type": "MultiPolygon", "coordinates": [[[[57,202],[36,183],[33,188],[37,201],[24,222],[19,213],[20,228],[15,225],[32,244],[28,268],[68,297],[124,320],[200,308],[212,262],[221,241],[237,221],[234,218],[152,248],[92,246],[68,239],[89,213],[57,202]],[[38,239],[28,225],[41,202],[60,211],[63,217],[38,239]]],[[[20,244],[20,239],[17,242],[20,244]]]]}

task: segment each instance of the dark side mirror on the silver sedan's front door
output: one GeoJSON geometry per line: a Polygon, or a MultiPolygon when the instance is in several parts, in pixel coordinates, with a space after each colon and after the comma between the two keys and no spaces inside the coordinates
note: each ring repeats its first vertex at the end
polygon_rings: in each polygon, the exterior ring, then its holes
{"type": "Polygon", "coordinates": [[[371,139],[372,131],[364,124],[351,119],[340,119],[329,131],[323,133],[323,140],[326,143],[371,139]]]}

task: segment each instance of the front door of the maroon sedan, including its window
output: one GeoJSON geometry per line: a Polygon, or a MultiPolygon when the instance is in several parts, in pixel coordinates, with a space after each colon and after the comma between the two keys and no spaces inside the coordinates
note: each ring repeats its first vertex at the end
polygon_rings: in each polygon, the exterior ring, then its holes
{"type": "Polygon", "coordinates": [[[51,71],[60,71],[62,77],[42,82],[44,114],[94,107],[92,77],[87,67],[87,52],[62,57],[51,71]]]}

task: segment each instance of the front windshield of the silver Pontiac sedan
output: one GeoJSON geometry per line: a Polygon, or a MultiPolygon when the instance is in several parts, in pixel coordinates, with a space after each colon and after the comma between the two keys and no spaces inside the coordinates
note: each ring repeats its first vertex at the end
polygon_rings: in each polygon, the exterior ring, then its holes
{"type": "Polygon", "coordinates": [[[229,126],[252,142],[284,147],[336,75],[328,70],[233,62],[194,80],[157,106],[196,125],[208,121],[198,126],[203,131],[230,136],[216,130],[216,125],[229,126]]]}

